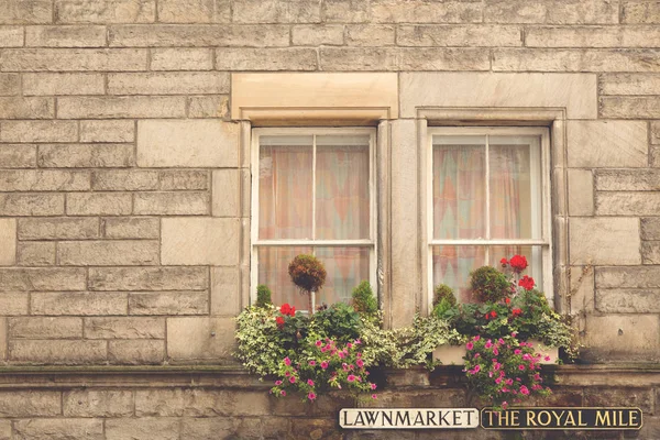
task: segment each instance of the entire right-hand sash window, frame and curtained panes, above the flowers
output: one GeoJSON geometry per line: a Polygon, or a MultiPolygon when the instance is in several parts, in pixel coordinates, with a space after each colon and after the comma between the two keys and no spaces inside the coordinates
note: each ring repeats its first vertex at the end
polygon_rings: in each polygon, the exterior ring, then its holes
{"type": "Polygon", "coordinates": [[[429,144],[429,292],[443,283],[470,301],[471,271],[521,254],[551,296],[548,130],[430,128],[429,144]]]}

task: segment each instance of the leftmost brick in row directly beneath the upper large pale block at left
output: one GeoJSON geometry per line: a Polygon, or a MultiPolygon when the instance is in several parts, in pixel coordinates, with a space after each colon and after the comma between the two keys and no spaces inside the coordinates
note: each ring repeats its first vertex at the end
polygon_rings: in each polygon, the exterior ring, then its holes
{"type": "Polygon", "coordinates": [[[88,172],[0,170],[0,191],[84,191],[89,188],[88,172]]]}

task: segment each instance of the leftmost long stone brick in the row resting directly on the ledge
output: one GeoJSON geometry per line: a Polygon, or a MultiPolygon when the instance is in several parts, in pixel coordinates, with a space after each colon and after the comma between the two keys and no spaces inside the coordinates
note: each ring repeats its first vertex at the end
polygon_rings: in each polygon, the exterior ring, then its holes
{"type": "MultiPolygon", "coordinates": [[[[11,361],[37,364],[88,364],[105,362],[106,341],[13,340],[9,343],[11,361]]],[[[51,420],[48,420],[51,421],[51,420]]],[[[48,437],[45,437],[48,438],[48,437]]]]}

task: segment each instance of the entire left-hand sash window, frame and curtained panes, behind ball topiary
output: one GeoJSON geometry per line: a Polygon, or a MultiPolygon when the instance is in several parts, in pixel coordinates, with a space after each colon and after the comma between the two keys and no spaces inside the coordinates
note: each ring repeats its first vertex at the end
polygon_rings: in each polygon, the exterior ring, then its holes
{"type": "Polygon", "coordinates": [[[255,129],[252,136],[252,295],[307,308],[288,263],[315,254],[326,266],[316,304],[348,301],[375,286],[375,130],[255,129]]]}

